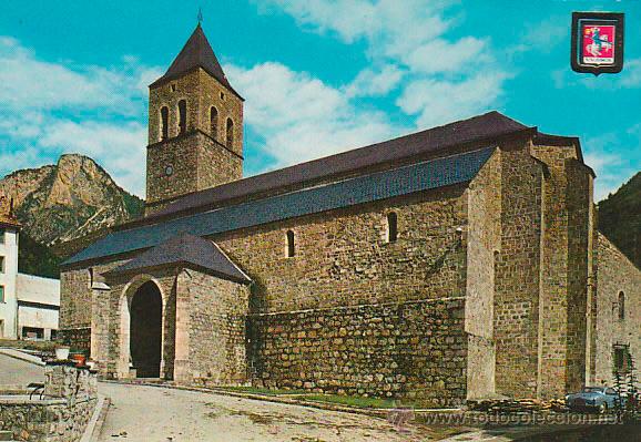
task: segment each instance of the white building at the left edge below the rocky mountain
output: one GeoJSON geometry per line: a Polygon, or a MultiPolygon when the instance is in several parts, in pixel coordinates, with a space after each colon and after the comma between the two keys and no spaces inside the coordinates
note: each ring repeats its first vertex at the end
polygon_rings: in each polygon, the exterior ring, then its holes
{"type": "Polygon", "coordinates": [[[0,199],[0,338],[54,338],[60,281],[18,273],[20,224],[7,206],[0,199]]]}

